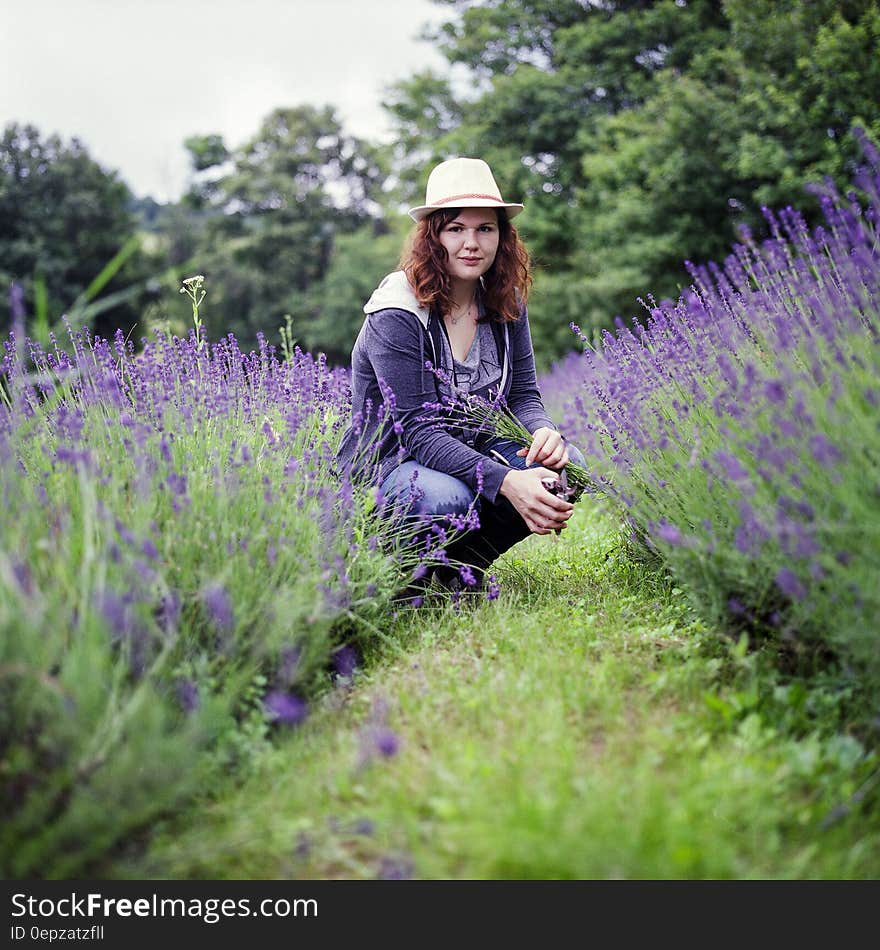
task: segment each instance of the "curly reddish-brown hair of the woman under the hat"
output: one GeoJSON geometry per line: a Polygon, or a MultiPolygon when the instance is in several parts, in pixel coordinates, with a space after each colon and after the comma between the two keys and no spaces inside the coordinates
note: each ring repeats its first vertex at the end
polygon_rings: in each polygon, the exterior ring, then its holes
{"type": "MultiPolygon", "coordinates": [[[[448,255],[440,233],[460,214],[461,208],[443,208],[423,218],[416,226],[400,258],[416,299],[422,307],[448,313],[453,309],[452,279],[446,269],[448,255]]],[[[531,259],[516,228],[503,209],[493,209],[498,218],[498,252],[483,275],[487,313],[507,323],[519,319],[532,286],[531,259]]]]}

